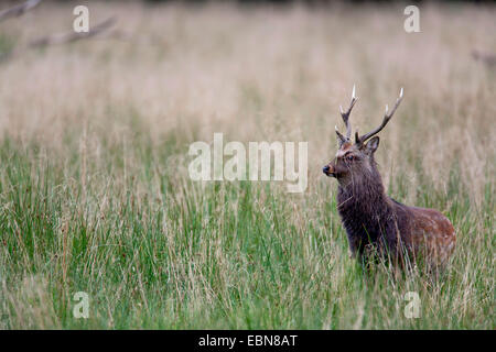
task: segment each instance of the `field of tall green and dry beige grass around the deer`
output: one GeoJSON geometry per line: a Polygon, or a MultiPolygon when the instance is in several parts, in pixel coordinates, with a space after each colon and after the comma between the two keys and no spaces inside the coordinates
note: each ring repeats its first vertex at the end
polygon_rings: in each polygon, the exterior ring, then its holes
{"type": "MultiPolygon", "coordinates": [[[[74,6],[1,23],[0,53],[67,31],[74,6]]],[[[91,2],[126,40],[2,61],[0,328],[495,329],[496,70],[471,52],[496,52],[496,8],[427,6],[412,34],[402,10],[91,2]],[[354,84],[362,132],[405,87],[376,158],[391,197],[453,222],[438,279],[348,257],[321,169],[354,84]],[[214,132],[308,141],[306,191],[192,182],[214,132]]]]}

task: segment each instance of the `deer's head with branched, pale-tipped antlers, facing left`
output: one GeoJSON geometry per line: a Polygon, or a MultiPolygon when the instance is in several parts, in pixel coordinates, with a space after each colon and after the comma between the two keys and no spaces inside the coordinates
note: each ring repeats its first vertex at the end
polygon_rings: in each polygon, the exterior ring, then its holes
{"type": "Polygon", "coordinates": [[[339,148],[336,153],[336,157],[331,163],[324,166],[324,174],[330,177],[337,178],[341,185],[347,185],[349,182],[355,182],[366,175],[374,176],[374,174],[377,174],[374,153],[379,146],[379,138],[375,135],[379,133],[392,118],[392,114],[395,113],[402,98],[403,88],[401,88],[400,95],[396,100],[395,107],[391,111],[389,111],[388,106],[386,105],[386,112],[382,119],[382,123],[374,131],[364,135],[359,135],[358,132],[355,132],[355,143],[353,143],[351,140],[352,125],[349,123],[349,113],[352,112],[355,102],[358,100],[358,98],[356,98],[355,96],[355,86],[353,86],[349,108],[346,111],[343,111],[343,108],[339,107],[341,117],[343,118],[343,121],[346,125],[346,135],[343,135],[337,130],[337,127],[335,128],[339,148]],[[367,142],[367,140],[369,141],[367,142]]]}

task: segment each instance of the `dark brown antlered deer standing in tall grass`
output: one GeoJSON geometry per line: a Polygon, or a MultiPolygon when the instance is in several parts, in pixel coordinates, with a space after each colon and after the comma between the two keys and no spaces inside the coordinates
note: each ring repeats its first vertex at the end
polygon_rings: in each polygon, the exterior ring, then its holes
{"type": "Polygon", "coordinates": [[[356,131],[353,143],[349,114],[358,100],[354,86],[348,109],[343,111],[339,106],[346,134],[335,127],[338,150],[323,173],[337,179],[337,211],[352,257],[360,258],[364,264],[374,252],[402,267],[406,263],[417,263],[419,257],[429,267],[444,267],[455,248],[452,223],[438,210],[409,207],[387,196],[374,158],[379,146],[376,134],[391,120],[402,98],[401,88],[390,111],[386,105],[380,125],[363,135],[356,131]]]}

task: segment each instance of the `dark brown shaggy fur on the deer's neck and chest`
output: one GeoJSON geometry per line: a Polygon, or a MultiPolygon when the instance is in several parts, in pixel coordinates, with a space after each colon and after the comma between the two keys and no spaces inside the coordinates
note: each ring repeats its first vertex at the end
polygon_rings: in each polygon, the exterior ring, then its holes
{"type": "Polygon", "coordinates": [[[378,244],[379,249],[387,244],[388,250],[396,249],[393,205],[385,194],[374,158],[359,177],[352,172],[348,179],[339,180],[337,210],[354,255],[362,255],[367,244],[378,244]]]}

